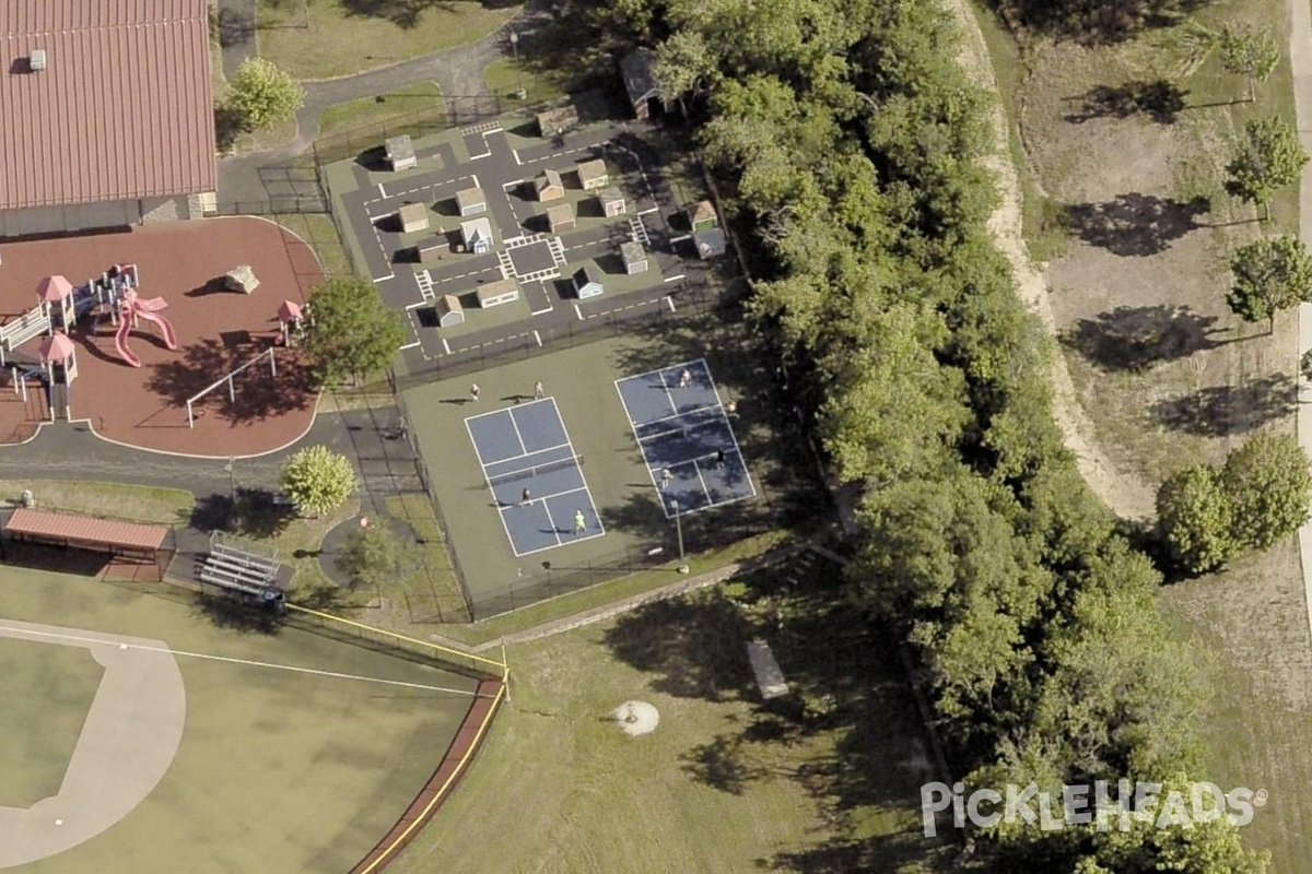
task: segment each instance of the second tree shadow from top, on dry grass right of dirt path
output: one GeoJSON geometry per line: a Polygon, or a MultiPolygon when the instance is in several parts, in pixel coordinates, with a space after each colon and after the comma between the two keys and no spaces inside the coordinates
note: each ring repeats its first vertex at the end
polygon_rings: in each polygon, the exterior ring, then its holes
{"type": "Polygon", "coordinates": [[[1065,224],[1090,246],[1123,258],[1144,258],[1200,228],[1197,216],[1210,208],[1203,197],[1185,202],[1134,191],[1103,203],[1072,203],[1065,224]]]}

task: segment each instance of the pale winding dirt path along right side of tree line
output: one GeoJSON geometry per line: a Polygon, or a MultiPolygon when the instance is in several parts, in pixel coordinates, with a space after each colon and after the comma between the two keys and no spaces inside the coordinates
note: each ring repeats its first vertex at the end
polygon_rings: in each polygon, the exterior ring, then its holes
{"type": "MultiPolygon", "coordinates": [[[[968,0],[947,0],[947,8],[962,28],[962,66],[970,71],[974,81],[989,93],[997,94],[997,80],[993,76],[988,46],[968,0]]],[[[1047,282],[1043,274],[1035,270],[1025,238],[1021,236],[1021,182],[1012,164],[1008,145],[1010,127],[1001,102],[994,104],[992,115],[994,143],[985,165],[997,174],[1000,204],[989,219],[989,229],[997,238],[998,249],[1012,262],[1021,297],[1039,314],[1048,333],[1055,334],[1056,322],[1048,303],[1047,282]]],[[[1135,520],[1151,519],[1155,515],[1153,490],[1138,477],[1113,466],[1094,444],[1093,423],[1080,406],[1071,373],[1060,352],[1055,352],[1052,359],[1052,385],[1054,415],[1065,436],[1067,448],[1078,459],[1080,473],[1089,487],[1117,515],[1135,520]]]]}

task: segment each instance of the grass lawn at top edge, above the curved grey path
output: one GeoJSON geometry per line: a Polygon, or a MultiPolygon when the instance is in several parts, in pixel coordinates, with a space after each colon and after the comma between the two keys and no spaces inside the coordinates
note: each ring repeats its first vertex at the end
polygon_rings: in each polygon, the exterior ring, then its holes
{"type": "Polygon", "coordinates": [[[258,0],[260,54],[297,79],[332,79],[475,42],[518,7],[407,0],[258,0]],[[497,7],[497,8],[489,8],[497,7]]]}

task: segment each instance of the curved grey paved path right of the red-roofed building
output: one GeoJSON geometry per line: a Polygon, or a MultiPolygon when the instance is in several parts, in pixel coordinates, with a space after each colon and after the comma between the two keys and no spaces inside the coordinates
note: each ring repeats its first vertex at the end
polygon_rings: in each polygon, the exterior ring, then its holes
{"type": "MultiPolygon", "coordinates": [[[[222,3],[224,5],[241,5],[245,0],[222,0],[222,3]]],[[[449,100],[454,97],[468,98],[471,104],[479,98],[491,100],[493,94],[487,83],[483,81],[483,68],[505,56],[509,46],[505,34],[510,28],[529,34],[538,26],[539,16],[544,14],[542,5],[542,3],[526,4],[501,30],[467,46],[437,51],[352,76],[303,81],[306,104],[297,113],[297,138],[286,145],[264,152],[230,155],[219,159],[220,203],[268,200],[269,191],[260,170],[270,165],[286,164],[308,151],[319,134],[319,117],[329,106],[384,94],[424,81],[437,83],[442,94],[449,100]]],[[[253,48],[253,45],[248,48],[253,48]]],[[[227,58],[228,55],[224,54],[224,69],[227,68],[227,58]]]]}

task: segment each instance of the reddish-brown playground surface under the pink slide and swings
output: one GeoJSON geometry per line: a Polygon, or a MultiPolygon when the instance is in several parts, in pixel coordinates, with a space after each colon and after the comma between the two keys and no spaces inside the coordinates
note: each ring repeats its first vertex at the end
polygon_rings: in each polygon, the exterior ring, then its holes
{"type": "MultiPolygon", "coordinates": [[[[270,452],[310,428],[316,393],[299,350],[281,345],[278,311],[283,301],[304,304],[323,273],[310,246],[272,221],[203,219],[0,244],[0,325],[38,304],[37,287],[46,276],[85,286],[112,266],[130,263],[136,265],[139,318],[121,345],[140,367],[119,354],[108,307],[79,316],[68,332],[77,366],[68,385],[73,421],[119,443],[220,457],[270,452]],[[224,288],[224,274],[240,265],[258,279],[251,294],[224,288]],[[98,320],[97,312],[104,313],[98,320]],[[266,352],[274,345],[277,375],[270,375],[266,352]],[[261,352],[260,363],[234,377],[235,400],[227,385],[219,387],[197,401],[189,427],[186,400],[261,352]]],[[[37,359],[42,339],[22,343],[14,358],[37,359]]],[[[25,440],[49,421],[42,384],[28,381],[24,401],[12,371],[0,371],[0,443],[25,440]]]]}

